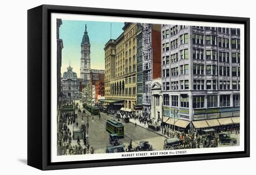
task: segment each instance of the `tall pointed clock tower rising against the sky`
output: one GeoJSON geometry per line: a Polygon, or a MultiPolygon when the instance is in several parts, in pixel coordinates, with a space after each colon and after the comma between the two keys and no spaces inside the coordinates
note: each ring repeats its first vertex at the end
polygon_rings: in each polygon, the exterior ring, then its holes
{"type": "Polygon", "coordinates": [[[88,84],[90,80],[90,68],[91,68],[91,45],[88,36],[87,26],[85,25],[85,31],[81,42],[81,68],[80,77],[83,79],[82,84],[88,84]]]}

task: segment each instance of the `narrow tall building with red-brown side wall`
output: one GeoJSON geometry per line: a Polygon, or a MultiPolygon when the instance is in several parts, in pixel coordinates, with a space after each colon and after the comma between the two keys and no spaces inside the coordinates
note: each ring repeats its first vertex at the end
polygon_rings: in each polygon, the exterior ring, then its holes
{"type": "Polygon", "coordinates": [[[151,117],[152,79],[161,77],[161,25],[142,24],[143,116],[151,117]]]}

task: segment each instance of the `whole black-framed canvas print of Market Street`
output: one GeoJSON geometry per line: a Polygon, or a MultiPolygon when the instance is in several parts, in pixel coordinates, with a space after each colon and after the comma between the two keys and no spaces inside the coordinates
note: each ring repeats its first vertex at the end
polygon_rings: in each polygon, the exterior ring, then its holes
{"type": "Polygon", "coordinates": [[[28,10],[28,165],[248,156],[248,18],[28,10]]]}

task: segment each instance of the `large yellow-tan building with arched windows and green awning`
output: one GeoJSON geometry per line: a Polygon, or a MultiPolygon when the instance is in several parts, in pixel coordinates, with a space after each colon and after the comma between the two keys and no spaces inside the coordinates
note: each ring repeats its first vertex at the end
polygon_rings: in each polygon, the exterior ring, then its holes
{"type": "Polygon", "coordinates": [[[105,103],[134,111],[136,105],[136,23],[125,23],[124,32],[105,45],[105,103]],[[108,87],[107,87],[108,86],[108,87]]]}

